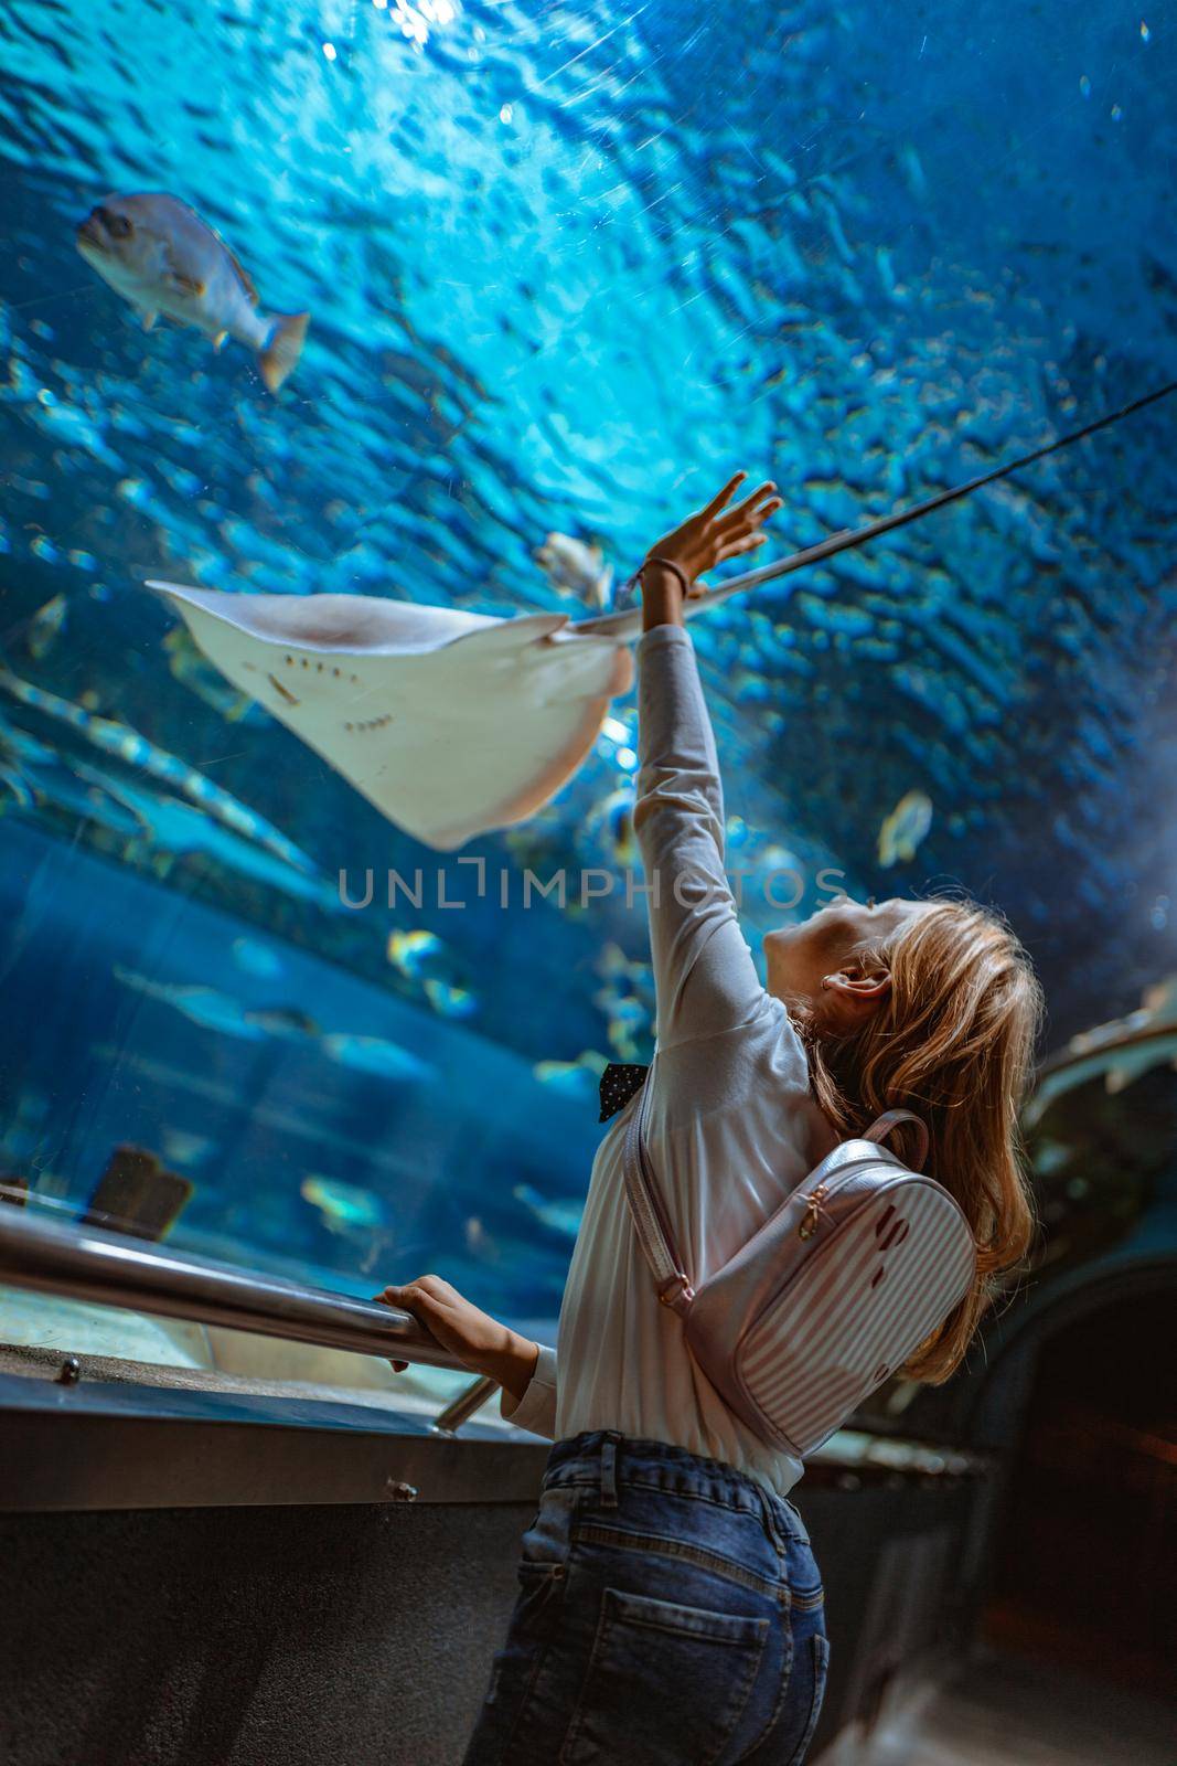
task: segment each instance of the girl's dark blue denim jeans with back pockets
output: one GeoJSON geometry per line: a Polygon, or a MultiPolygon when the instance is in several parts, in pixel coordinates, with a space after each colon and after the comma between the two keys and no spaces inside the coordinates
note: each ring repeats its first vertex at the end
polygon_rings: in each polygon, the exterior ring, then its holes
{"type": "Polygon", "coordinates": [[[464,1766],[799,1766],[828,1664],[792,1503],[586,1430],[549,1453],[464,1766]]]}

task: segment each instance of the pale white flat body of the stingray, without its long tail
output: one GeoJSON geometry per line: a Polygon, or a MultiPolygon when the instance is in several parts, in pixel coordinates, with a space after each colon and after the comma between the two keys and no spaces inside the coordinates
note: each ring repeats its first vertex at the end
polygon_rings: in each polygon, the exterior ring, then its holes
{"type": "Polygon", "coordinates": [[[633,678],[623,643],[565,615],[148,586],[235,687],[441,851],[535,814],[633,678]]]}

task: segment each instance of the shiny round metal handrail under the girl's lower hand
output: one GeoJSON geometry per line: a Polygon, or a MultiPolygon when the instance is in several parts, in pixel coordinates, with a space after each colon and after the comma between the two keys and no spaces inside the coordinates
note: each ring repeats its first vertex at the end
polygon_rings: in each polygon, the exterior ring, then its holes
{"type": "MultiPolygon", "coordinates": [[[[162,1250],[101,1227],[37,1220],[12,1206],[0,1206],[0,1282],[323,1349],[469,1372],[411,1312],[397,1307],[162,1250]]],[[[434,1427],[454,1432],[494,1392],[498,1381],[478,1376],[441,1411],[434,1427]]]]}

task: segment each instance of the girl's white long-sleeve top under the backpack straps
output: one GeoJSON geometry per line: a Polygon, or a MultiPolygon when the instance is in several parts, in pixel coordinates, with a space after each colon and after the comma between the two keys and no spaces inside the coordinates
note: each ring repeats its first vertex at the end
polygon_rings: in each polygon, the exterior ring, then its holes
{"type": "MultiPolygon", "coordinates": [[[[805,1049],[761,985],[723,874],[723,798],[695,652],[681,625],[639,645],[633,826],[642,851],[658,1038],[644,1139],[695,1287],[764,1224],[835,1144],[808,1088],[805,1049]]],[[[559,1309],[505,1418],[565,1439],[586,1429],[671,1441],[725,1460],[785,1496],[803,1466],[764,1445],[723,1404],[658,1302],[625,1196],[625,1123],[593,1162],[559,1309]]]]}

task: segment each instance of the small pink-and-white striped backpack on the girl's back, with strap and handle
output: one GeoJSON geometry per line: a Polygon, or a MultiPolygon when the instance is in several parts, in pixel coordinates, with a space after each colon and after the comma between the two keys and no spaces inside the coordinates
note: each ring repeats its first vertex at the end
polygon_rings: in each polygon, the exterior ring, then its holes
{"type": "Polygon", "coordinates": [[[903,1365],[965,1296],[976,1245],[956,1201],[882,1144],[905,1109],[842,1141],[699,1291],[678,1256],[642,1137],[626,1125],[625,1189],[658,1300],[725,1404],[805,1459],[903,1365]]]}

